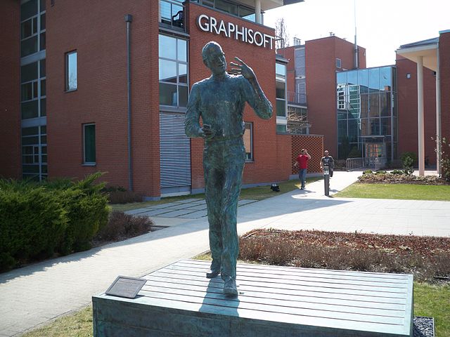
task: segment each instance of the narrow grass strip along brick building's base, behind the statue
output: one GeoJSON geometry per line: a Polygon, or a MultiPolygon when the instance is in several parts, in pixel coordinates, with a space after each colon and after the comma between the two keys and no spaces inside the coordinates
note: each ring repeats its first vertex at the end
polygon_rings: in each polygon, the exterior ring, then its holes
{"type": "MultiPolygon", "coordinates": [[[[313,177],[313,178],[307,178],[307,183],[312,183],[316,180],[320,180],[321,177],[313,177]]],[[[293,190],[297,190],[300,188],[300,181],[295,180],[287,180],[282,181],[281,183],[278,183],[280,186],[280,192],[279,193],[286,193],[293,190]]],[[[259,187],[250,187],[250,188],[244,188],[242,191],[240,191],[240,199],[250,199],[250,200],[263,200],[270,197],[275,197],[278,195],[278,192],[273,192],[270,189],[270,186],[259,186],[259,187]]],[[[129,204],[113,204],[110,205],[113,211],[130,211],[131,209],[141,209],[143,207],[158,205],[158,204],[166,204],[173,201],[183,200],[183,199],[204,199],[205,194],[190,194],[190,195],[183,195],[180,197],[167,197],[162,198],[158,201],[144,201],[144,202],[133,202],[129,204]]]]}

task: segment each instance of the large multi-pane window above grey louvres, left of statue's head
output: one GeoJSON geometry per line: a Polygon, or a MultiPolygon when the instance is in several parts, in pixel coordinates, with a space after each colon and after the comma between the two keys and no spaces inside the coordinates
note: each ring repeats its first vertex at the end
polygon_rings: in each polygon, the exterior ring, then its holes
{"type": "Polygon", "coordinates": [[[160,35],[160,105],[188,103],[188,41],[160,35]]]}

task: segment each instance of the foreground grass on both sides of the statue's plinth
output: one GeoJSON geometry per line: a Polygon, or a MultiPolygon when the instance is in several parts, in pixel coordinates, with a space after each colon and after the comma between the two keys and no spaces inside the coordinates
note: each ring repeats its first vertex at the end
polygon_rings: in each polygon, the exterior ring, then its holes
{"type": "MultiPolygon", "coordinates": [[[[205,257],[206,258],[206,257],[205,257]]],[[[414,282],[414,315],[435,317],[436,337],[450,336],[450,286],[414,282]]],[[[89,337],[92,333],[92,307],[56,319],[23,337],[89,337]]]]}

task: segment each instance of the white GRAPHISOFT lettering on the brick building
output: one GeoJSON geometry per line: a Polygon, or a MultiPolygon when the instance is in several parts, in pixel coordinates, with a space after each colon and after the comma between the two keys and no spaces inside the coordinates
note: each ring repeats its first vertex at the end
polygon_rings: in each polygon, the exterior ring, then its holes
{"type": "Polygon", "coordinates": [[[212,16],[205,14],[198,15],[197,25],[203,32],[210,32],[217,35],[223,35],[231,39],[240,40],[248,44],[256,44],[271,49],[274,48],[274,39],[271,35],[255,31],[251,28],[240,27],[232,22],[224,22],[224,20],[216,20],[212,16]]]}

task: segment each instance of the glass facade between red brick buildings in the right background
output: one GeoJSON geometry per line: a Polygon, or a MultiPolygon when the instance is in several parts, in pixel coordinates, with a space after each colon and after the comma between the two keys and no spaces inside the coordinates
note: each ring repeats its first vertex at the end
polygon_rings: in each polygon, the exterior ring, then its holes
{"type": "Polygon", "coordinates": [[[339,159],[397,158],[396,76],[393,66],[336,74],[339,159]]]}

